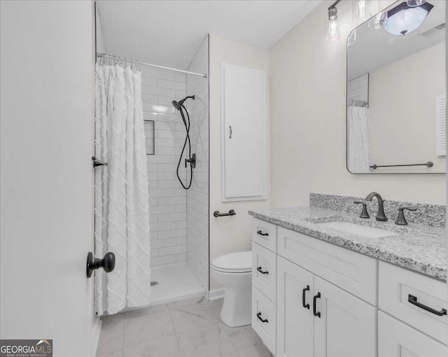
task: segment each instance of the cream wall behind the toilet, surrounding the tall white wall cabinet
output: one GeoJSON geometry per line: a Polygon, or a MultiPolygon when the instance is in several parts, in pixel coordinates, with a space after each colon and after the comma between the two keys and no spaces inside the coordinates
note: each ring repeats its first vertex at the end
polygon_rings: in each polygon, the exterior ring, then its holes
{"type": "MultiPolygon", "coordinates": [[[[222,202],[221,189],[221,64],[269,70],[267,50],[210,35],[210,261],[220,255],[251,250],[249,209],[269,207],[269,200],[222,202]],[[235,209],[237,215],[215,218],[213,212],[235,209]]],[[[269,120],[268,120],[269,123],[269,120]]],[[[211,275],[211,290],[219,285],[211,275]]]]}

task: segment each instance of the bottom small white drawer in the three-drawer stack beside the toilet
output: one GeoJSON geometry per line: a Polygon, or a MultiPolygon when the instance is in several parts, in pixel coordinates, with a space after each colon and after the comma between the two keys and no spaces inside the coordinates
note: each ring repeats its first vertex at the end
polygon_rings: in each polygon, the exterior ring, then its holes
{"type": "Polygon", "coordinates": [[[276,308],[260,290],[252,286],[252,328],[275,356],[276,308]],[[265,320],[265,322],[261,321],[265,320]]]}

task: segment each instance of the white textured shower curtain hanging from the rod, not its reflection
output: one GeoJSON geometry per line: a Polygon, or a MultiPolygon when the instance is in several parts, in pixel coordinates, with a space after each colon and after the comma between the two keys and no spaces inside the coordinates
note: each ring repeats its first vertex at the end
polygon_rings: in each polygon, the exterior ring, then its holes
{"type": "Polygon", "coordinates": [[[148,305],[151,293],[149,200],[141,72],[97,64],[95,256],[116,255],[113,272],[95,272],[99,316],[148,305]]]}

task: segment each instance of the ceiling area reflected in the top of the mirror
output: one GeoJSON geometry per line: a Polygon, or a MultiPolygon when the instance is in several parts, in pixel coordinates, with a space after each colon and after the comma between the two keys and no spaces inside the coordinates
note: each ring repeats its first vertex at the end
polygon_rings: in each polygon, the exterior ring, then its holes
{"type": "MultiPolygon", "coordinates": [[[[367,22],[356,29],[356,42],[348,48],[347,78],[351,80],[365,73],[370,73],[386,64],[398,61],[413,53],[429,48],[445,41],[446,30],[429,37],[421,34],[426,30],[445,22],[445,0],[429,0],[434,7],[428,13],[418,29],[406,36],[388,34],[383,28],[372,30],[367,22]]],[[[391,10],[397,3],[393,3],[386,10],[391,10]]]]}

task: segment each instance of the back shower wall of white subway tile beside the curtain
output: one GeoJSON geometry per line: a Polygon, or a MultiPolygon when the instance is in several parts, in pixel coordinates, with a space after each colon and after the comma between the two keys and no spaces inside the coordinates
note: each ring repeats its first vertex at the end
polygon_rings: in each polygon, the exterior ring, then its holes
{"type": "MultiPolygon", "coordinates": [[[[148,159],[151,266],[187,260],[186,190],[176,177],[185,139],[179,111],[172,100],[186,95],[186,76],[172,71],[141,68],[144,120],[154,120],[154,153],[148,159]]],[[[146,129],[151,124],[145,123],[146,129]]],[[[147,153],[152,152],[151,130],[146,130],[147,153]]],[[[181,166],[181,178],[186,172],[181,166]]]]}

